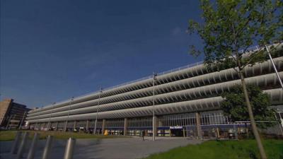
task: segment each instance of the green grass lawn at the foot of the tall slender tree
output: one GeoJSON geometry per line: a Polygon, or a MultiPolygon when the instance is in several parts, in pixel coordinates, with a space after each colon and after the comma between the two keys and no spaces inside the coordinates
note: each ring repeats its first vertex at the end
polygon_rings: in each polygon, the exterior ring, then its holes
{"type": "MultiPolygon", "coordinates": [[[[266,139],[263,141],[267,158],[283,158],[283,140],[266,139]]],[[[220,158],[260,158],[255,140],[206,141],[198,145],[174,148],[165,153],[150,155],[146,159],[220,159],[220,158]]]]}

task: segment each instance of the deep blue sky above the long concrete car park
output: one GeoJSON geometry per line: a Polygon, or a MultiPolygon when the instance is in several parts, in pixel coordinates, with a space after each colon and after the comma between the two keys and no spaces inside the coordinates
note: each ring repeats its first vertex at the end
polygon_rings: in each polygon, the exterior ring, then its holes
{"type": "Polygon", "coordinates": [[[198,1],[1,1],[1,99],[42,107],[202,61],[198,1]]]}

